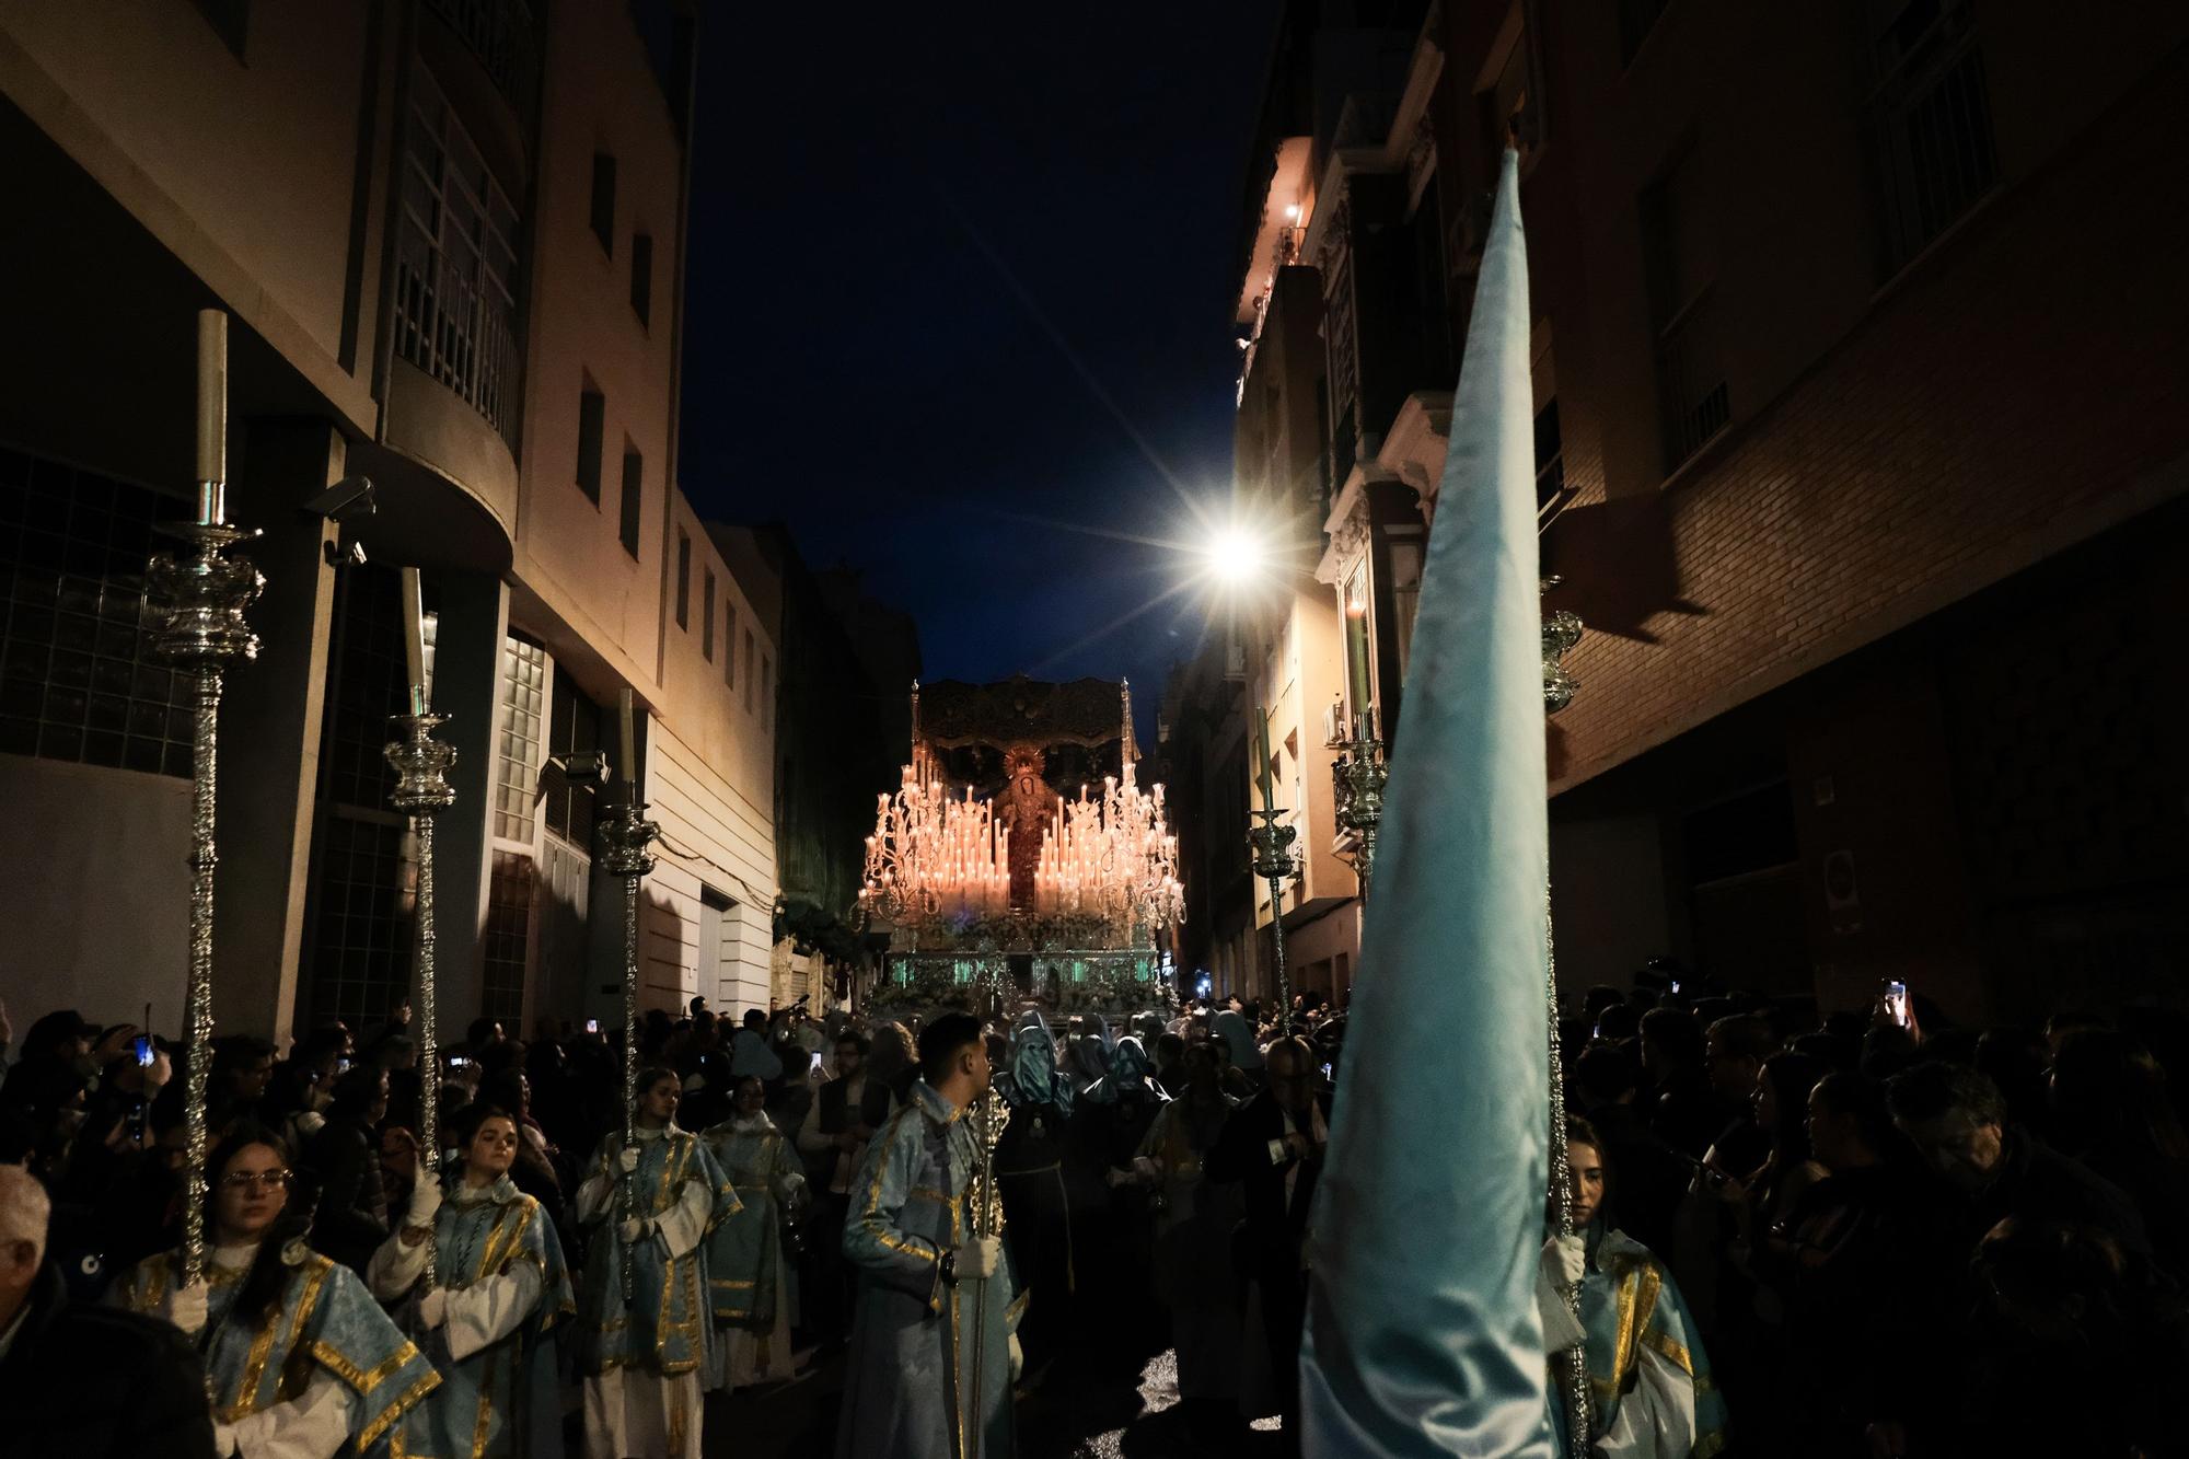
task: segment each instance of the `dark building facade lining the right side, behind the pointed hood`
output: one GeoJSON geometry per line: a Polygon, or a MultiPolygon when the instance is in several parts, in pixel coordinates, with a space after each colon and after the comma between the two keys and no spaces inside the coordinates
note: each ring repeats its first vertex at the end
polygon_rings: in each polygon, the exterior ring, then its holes
{"type": "Polygon", "coordinates": [[[1972,1019],[2176,997],[2185,42],[2023,0],[1287,11],[1241,438],[1320,307],[1278,394],[1320,368],[1316,578],[1392,747],[1521,151],[1545,607],[1587,622],[1550,723],[1567,986],[1672,955],[1972,1019]]]}

